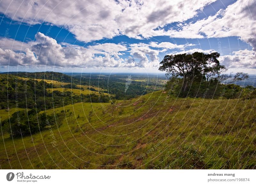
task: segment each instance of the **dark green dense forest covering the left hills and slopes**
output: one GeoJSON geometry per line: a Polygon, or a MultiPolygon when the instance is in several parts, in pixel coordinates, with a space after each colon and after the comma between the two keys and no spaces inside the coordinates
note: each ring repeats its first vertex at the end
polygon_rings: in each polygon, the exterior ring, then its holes
{"type": "MultiPolygon", "coordinates": [[[[60,126],[61,119],[64,118],[63,114],[58,115],[41,115],[37,117],[37,113],[42,110],[48,110],[52,108],[63,107],[68,104],[74,104],[79,102],[109,102],[107,95],[96,95],[95,93],[90,94],[72,94],[71,91],[65,90],[66,88],[78,89],[75,84],[67,84],[63,86],[63,91],[54,90],[54,84],[47,83],[45,81],[32,80],[33,74],[28,73],[28,79],[22,78],[25,73],[14,74],[1,74],[0,75],[0,109],[8,111],[11,108],[25,108],[26,110],[17,111],[12,114],[10,119],[2,120],[1,126],[3,132],[10,133],[13,137],[26,136],[27,134],[39,132],[40,129],[44,129],[47,125],[54,125],[58,123],[60,126]],[[48,91],[47,88],[53,88],[52,92],[48,91]],[[57,117],[58,120],[55,118],[57,117]],[[45,119],[51,120],[49,123],[45,123],[45,119]],[[7,123],[11,124],[10,127],[6,127],[7,123]],[[9,129],[8,129],[9,128],[9,129]]],[[[55,79],[60,81],[64,76],[66,82],[71,78],[68,75],[61,73],[54,73],[55,76],[52,78],[51,73],[45,73],[47,79],[55,79]]],[[[41,78],[40,73],[37,77],[41,78]]],[[[95,89],[92,89],[95,91],[95,89]]]]}

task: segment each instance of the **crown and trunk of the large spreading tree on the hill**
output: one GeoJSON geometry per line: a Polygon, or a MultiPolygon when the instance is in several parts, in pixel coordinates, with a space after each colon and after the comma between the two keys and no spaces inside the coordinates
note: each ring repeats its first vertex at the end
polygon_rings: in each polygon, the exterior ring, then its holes
{"type": "Polygon", "coordinates": [[[219,53],[204,54],[195,52],[193,54],[166,55],[160,62],[160,71],[165,71],[166,76],[172,75],[184,79],[183,91],[188,87],[188,83],[193,80],[210,80],[211,77],[219,75],[225,71],[225,66],[221,66],[219,53]]]}

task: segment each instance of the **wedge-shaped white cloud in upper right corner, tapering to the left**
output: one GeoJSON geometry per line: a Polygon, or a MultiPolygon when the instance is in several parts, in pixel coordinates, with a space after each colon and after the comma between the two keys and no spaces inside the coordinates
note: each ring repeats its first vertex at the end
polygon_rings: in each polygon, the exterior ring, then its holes
{"type": "Polygon", "coordinates": [[[238,36],[256,51],[256,1],[237,0],[225,10],[195,23],[183,24],[181,29],[168,30],[168,34],[178,38],[221,38],[238,36]]]}

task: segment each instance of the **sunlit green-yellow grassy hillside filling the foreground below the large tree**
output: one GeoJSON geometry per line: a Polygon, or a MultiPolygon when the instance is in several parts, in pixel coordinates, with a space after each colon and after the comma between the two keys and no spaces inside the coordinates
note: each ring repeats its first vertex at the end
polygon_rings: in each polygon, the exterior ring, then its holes
{"type": "Polygon", "coordinates": [[[255,110],[255,99],[176,98],[163,91],[116,105],[76,103],[46,111],[65,111],[59,128],[1,140],[0,165],[2,169],[255,168],[255,110]]]}

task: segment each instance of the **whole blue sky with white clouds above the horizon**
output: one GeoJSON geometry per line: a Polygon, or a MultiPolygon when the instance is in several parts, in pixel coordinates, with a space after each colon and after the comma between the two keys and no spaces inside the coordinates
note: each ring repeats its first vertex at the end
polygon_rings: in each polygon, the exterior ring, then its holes
{"type": "Polygon", "coordinates": [[[0,71],[150,72],[167,54],[256,69],[255,0],[0,2],[0,71]]]}

